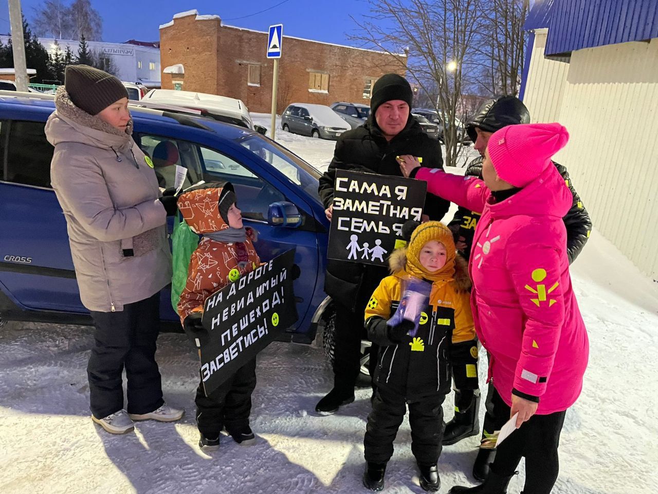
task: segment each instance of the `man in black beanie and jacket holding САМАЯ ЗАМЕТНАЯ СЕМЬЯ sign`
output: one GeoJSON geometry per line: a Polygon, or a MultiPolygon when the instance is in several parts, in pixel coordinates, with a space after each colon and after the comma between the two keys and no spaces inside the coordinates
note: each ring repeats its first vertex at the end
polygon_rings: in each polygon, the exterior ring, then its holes
{"type": "MultiPolygon", "coordinates": [[[[318,192],[328,219],[332,216],[338,169],[402,177],[397,158],[405,155],[419,159],[424,167],[443,169],[440,144],[429,138],[411,118],[412,100],[409,82],[398,74],[386,74],[374,84],[368,121],[338,138],[334,159],[320,178],[318,192]]],[[[449,206],[449,202],[428,194],[424,214],[440,220],[449,206]]],[[[354,400],[361,339],[365,336],[365,306],[387,275],[384,267],[336,260],[327,262],[324,291],[334,299],[336,306],[336,348],[334,388],[318,402],[315,409],[320,414],[332,414],[341,405],[354,400]]]]}

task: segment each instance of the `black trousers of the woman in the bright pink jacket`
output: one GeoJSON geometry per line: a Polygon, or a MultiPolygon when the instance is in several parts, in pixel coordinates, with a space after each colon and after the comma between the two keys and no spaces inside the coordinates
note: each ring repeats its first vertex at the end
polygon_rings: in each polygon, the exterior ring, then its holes
{"type": "MultiPolygon", "coordinates": [[[[492,404],[495,417],[509,420],[510,408],[495,389],[492,404]]],[[[559,472],[557,447],[566,414],[564,411],[530,417],[497,447],[492,468],[501,475],[511,474],[519,466],[521,457],[525,457],[526,483],[523,493],[550,494],[559,472]]]]}

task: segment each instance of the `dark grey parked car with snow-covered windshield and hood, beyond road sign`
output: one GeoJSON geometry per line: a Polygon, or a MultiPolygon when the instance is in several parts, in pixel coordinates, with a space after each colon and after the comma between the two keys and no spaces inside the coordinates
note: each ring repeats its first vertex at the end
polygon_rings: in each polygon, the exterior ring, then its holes
{"type": "Polygon", "coordinates": [[[326,105],[293,103],[281,115],[286,132],[323,139],[338,139],[351,126],[326,105]]]}

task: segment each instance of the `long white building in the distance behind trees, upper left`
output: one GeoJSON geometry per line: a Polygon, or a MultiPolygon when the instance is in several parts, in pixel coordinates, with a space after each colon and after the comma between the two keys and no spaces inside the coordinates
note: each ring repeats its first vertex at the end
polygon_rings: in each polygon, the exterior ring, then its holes
{"type": "MultiPolygon", "coordinates": [[[[0,40],[7,44],[11,36],[0,36],[0,40]]],[[[39,38],[39,41],[48,51],[55,51],[55,41],[59,43],[62,53],[70,47],[74,55],[78,55],[80,41],[55,40],[53,38],[39,38]]],[[[126,43],[106,43],[105,41],[87,41],[88,49],[95,51],[103,57],[108,57],[116,67],[116,76],[125,82],[141,82],[145,86],[160,87],[160,49],[156,43],[142,43],[140,41],[126,41],[126,43]]]]}

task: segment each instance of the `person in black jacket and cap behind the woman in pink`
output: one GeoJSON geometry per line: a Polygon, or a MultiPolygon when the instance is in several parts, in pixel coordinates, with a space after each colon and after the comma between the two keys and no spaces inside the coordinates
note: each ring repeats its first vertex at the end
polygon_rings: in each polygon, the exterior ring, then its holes
{"type": "MultiPolygon", "coordinates": [[[[474,148],[480,153],[480,156],[468,164],[466,175],[482,178],[482,157],[493,132],[508,125],[527,123],[530,123],[530,113],[522,101],[515,96],[498,96],[482,103],[475,116],[467,124],[468,136],[475,143],[474,148]]],[[[569,263],[572,263],[590,237],[592,221],[571,183],[567,169],[558,163],[553,164],[565,179],[565,183],[573,195],[573,205],[564,217],[565,227],[567,227],[567,256],[569,263]]],[[[473,233],[478,219],[480,219],[479,213],[459,207],[453,220],[449,223],[450,229],[455,234],[457,249],[467,260],[470,257],[473,233]]],[[[488,393],[488,398],[490,399],[490,397],[493,397],[493,393],[488,393]]],[[[466,437],[479,434],[479,409],[480,392],[478,390],[455,389],[455,417],[445,425],[443,445],[452,445],[466,437]]],[[[499,430],[509,418],[494,417],[490,411],[492,406],[489,402],[487,402],[486,409],[482,439],[491,435],[493,431],[499,430]]],[[[489,472],[489,463],[493,461],[494,456],[495,449],[480,448],[473,466],[473,476],[477,480],[485,480],[489,472]]]]}

